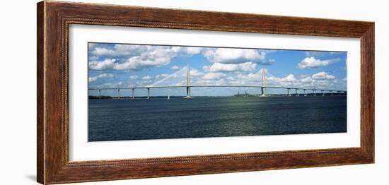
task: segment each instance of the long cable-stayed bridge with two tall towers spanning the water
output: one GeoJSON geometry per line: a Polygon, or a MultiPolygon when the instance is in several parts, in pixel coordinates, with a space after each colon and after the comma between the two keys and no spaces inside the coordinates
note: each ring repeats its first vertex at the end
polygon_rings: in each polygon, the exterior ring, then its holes
{"type": "Polygon", "coordinates": [[[147,86],[138,86],[138,87],[129,87],[129,88],[88,88],[88,90],[97,90],[98,97],[101,97],[102,90],[117,90],[117,97],[120,98],[120,90],[132,90],[132,99],[135,98],[135,90],[137,89],[146,89],[147,90],[147,98],[150,99],[150,91],[152,89],[161,89],[161,88],[186,88],[186,96],[184,98],[192,98],[191,91],[192,88],[260,88],[261,97],[267,96],[267,89],[284,89],[286,90],[286,96],[307,96],[307,91],[310,91],[310,95],[334,95],[334,94],[342,94],[346,95],[346,90],[331,90],[331,89],[320,89],[320,88],[298,88],[298,87],[283,87],[283,86],[271,86],[266,85],[266,69],[262,68],[261,74],[261,84],[260,85],[191,85],[190,78],[190,66],[187,66],[186,71],[186,85],[147,85],[147,86]],[[294,91],[294,92],[293,92],[294,91]]]}

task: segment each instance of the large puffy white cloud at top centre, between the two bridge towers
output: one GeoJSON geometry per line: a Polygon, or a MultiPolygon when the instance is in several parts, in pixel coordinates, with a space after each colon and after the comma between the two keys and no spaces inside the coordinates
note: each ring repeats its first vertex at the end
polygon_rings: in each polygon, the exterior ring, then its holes
{"type": "Polygon", "coordinates": [[[264,60],[266,53],[256,49],[217,48],[207,49],[203,55],[214,63],[239,64],[247,61],[264,60]]]}

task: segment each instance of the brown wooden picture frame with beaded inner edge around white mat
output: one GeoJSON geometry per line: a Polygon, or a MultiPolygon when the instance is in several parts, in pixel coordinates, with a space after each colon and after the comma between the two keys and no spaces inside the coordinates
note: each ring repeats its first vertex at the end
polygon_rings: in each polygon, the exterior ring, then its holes
{"type": "Polygon", "coordinates": [[[373,22],[58,1],[42,1],[37,4],[37,181],[42,184],[373,162],[373,22]],[[360,38],[361,147],[69,162],[69,24],[360,38]]]}

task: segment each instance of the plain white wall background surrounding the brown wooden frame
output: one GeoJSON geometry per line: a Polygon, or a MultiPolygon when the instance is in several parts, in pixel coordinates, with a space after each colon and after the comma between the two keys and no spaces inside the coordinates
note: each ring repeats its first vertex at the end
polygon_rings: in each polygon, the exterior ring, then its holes
{"type": "MultiPolygon", "coordinates": [[[[76,0],[74,0],[76,1],[76,0]]],[[[385,1],[103,1],[164,8],[262,13],[376,22],[376,164],[106,181],[90,184],[388,184],[388,5],[385,1]]],[[[35,184],[37,1],[0,7],[0,184],[35,184]]],[[[89,184],[89,183],[88,183],[89,184]]]]}

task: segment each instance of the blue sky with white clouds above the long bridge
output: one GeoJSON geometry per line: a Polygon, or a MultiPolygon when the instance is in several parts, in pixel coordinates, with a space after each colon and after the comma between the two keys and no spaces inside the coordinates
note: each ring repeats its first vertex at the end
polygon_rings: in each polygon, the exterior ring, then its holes
{"type": "MultiPolygon", "coordinates": [[[[186,85],[266,85],[347,90],[347,52],[88,43],[88,88],[186,85]]],[[[258,88],[192,88],[194,96],[260,94],[258,88]]],[[[285,93],[268,89],[267,93],[285,93]]],[[[116,96],[117,90],[102,95],[116,96]]],[[[137,96],[146,90],[137,90],[137,96]]],[[[89,90],[89,95],[98,95],[89,90]]],[[[131,90],[121,91],[130,96],[131,90]]],[[[185,88],[151,95],[185,95],[185,88]]]]}

